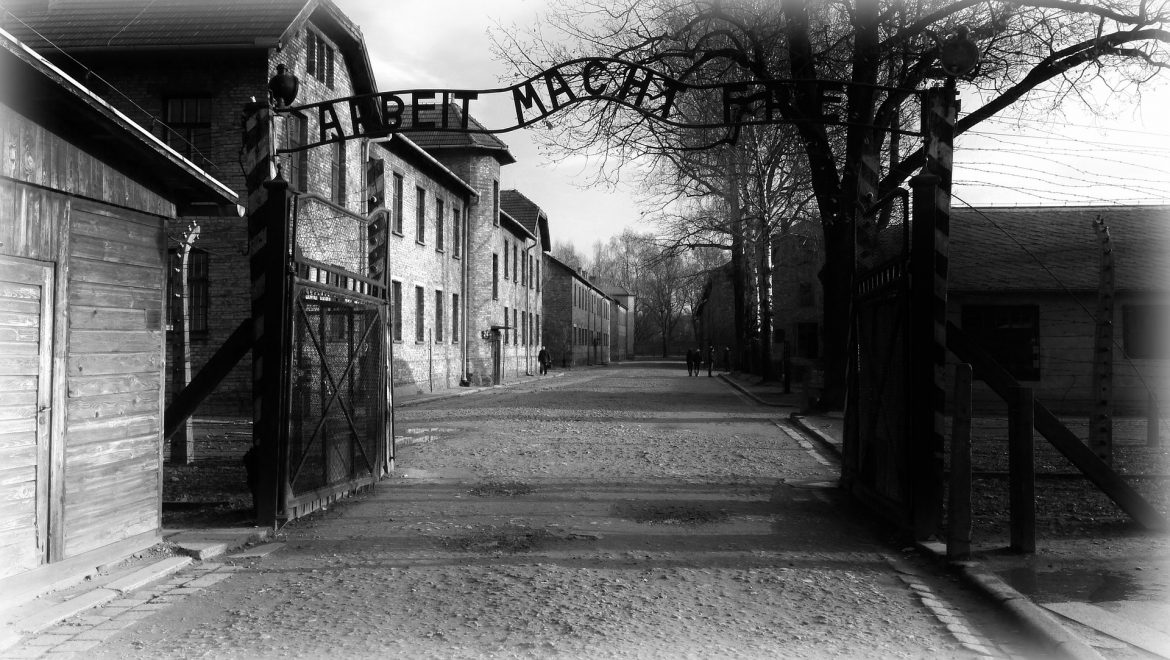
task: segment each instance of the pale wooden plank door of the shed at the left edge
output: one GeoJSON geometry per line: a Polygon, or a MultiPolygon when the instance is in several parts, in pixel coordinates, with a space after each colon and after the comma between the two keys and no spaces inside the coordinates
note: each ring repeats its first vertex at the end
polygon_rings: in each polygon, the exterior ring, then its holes
{"type": "Polygon", "coordinates": [[[48,557],[53,266],[0,256],[0,578],[48,557]]]}

